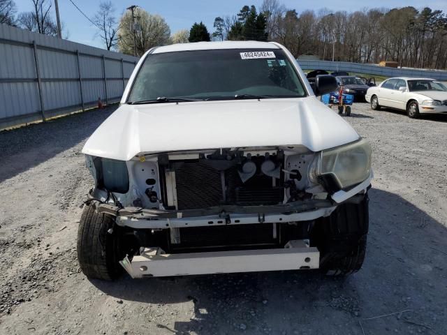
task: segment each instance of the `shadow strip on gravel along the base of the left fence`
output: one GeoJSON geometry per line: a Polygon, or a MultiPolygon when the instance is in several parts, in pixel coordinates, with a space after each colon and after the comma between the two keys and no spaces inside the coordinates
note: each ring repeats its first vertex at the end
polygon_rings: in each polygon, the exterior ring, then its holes
{"type": "Polygon", "coordinates": [[[103,110],[60,117],[41,124],[0,132],[0,181],[14,177],[79,144],[114,111],[103,110]]]}

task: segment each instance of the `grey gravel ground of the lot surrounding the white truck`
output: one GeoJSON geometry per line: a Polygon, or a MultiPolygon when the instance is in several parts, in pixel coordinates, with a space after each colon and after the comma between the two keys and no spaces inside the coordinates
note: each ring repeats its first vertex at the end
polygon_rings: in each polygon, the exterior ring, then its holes
{"type": "Polygon", "coordinates": [[[346,118],[374,149],[363,268],[112,283],[80,273],[92,185],[80,153],[115,107],[0,133],[0,334],[446,334],[447,117],[366,103],[346,118]]]}

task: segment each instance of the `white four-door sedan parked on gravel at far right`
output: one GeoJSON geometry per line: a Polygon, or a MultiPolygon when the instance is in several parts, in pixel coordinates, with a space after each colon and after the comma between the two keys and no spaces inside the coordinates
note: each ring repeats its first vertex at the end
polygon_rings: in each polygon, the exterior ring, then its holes
{"type": "Polygon", "coordinates": [[[370,87],[365,99],[373,110],[380,107],[406,110],[411,118],[422,113],[447,114],[447,87],[430,78],[390,78],[370,87]]]}

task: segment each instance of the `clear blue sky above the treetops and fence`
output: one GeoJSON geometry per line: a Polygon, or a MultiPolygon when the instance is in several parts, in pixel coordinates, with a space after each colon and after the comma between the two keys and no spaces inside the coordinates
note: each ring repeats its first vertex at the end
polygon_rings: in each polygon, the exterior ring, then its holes
{"type": "MultiPolygon", "coordinates": [[[[52,0],[53,1],[53,0],[52,0]]],[[[74,3],[89,17],[93,17],[98,10],[99,0],[73,0],[74,3]]],[[[237,0],[112,0],[115,5],[115,15],[121,16],[123,11],[131,5],[137,5],[152,14],[161,15],[168,23],[171,34],[180,29],[190,29],[194,22],[203,21],[210,33],[213,31],[214,18],[217,16],[235,15],[244,5],[261,6],[263,0],[237,1],[237,0]]],[[[428,6],[432,9],[444,10],[447,13],[447,0],[280,0],[288,9],[295,9],[298,13],[303,10],[321,8],[330,10],[346,10],[348,12],[363,8],[395,8],[413,6],[422,8],[428,6]]],[[[17,13],[32,9],[31,0],[15,0],[17,13]]],[[[101,40],[96,36],[96,28],[73,6],[69,0],[59,0],[59,14],[64,27],[68,30],[68,39],[73,42],[103,47],[101,40]]],[[[52,16],[54,5],[52,6],[52,16]]],[[[66,36],[66,33],[63,33],[66,36]]]]}

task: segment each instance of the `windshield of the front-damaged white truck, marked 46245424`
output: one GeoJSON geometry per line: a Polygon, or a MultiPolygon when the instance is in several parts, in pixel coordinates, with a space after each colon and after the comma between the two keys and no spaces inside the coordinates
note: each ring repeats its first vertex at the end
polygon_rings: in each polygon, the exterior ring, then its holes
{"type": "Polygon", "coordinates": [[[128,101],[302,96],[304,86],[282,50],[200,50],[149,54],[128,101]]]}

